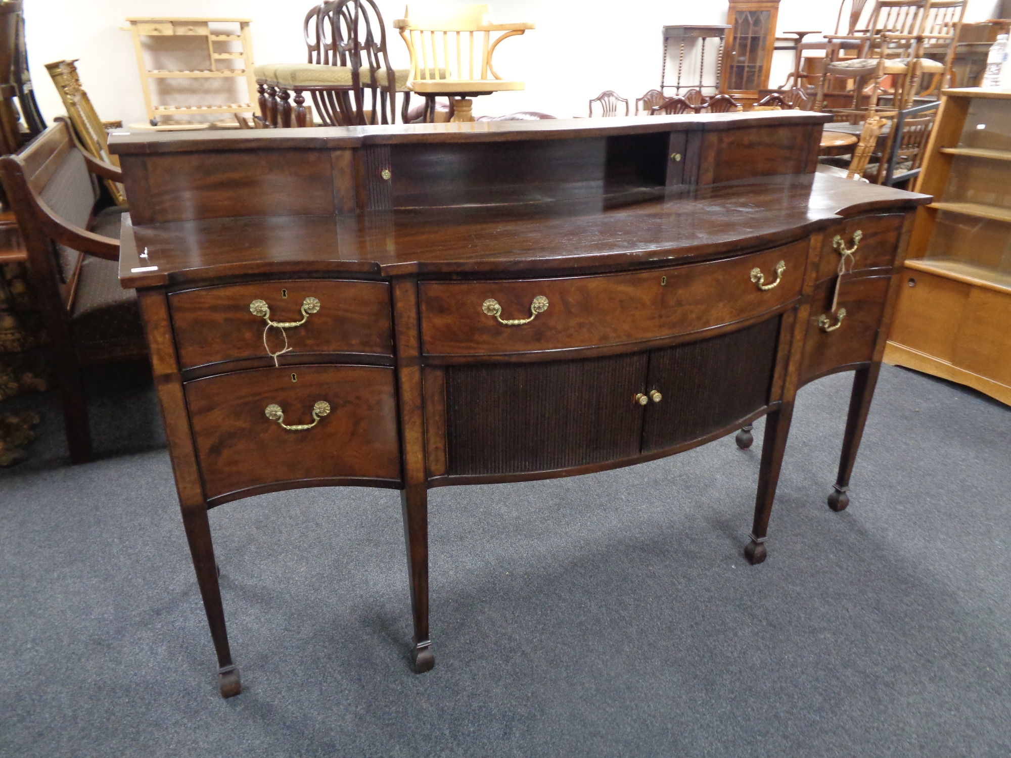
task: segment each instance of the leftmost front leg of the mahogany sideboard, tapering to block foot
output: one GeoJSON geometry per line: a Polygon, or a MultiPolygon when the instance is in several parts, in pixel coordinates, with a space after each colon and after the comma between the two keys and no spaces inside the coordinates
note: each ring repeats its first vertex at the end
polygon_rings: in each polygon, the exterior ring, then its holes
{"type": "Polygon", "coordinates": [[[232,660],[228,649],[228,635],[224,629],[224,608],[221,605],[221,590],[217,584],[217,563],[214,560],[214,546],[210,540],[210,523],[207,520],[207,506],[204,504],[183,506],[183,526],[189,542],[193,569],[203,598],[203,610],[210,627],[210,638],[217,653],[217,678],[221,697],[235,697],[243,691],[239,669],[232,660]]]}

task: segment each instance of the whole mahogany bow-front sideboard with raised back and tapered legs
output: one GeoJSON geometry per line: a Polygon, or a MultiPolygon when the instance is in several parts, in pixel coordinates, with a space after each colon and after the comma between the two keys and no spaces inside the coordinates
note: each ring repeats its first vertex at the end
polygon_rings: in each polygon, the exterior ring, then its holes
{"type": "Polygon", "coordinates": [[[183,524],[225,697],[207,509],[401,491],[418,671],[428,489],[653,460],[855,370],[846,490],[924,195],[815,174],[828,116],[761,112],[114,136],[183,524]],[[308,135],[306,135],[308,134],[308,135]],[[132,224],[132,225],[130,225],[132,224]]]}

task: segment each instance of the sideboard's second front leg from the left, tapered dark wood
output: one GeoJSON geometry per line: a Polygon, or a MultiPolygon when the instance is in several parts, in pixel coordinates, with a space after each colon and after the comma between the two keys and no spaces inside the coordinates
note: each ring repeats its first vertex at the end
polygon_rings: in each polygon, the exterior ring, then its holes
{"type": "Polygon", "coordinates": [[[407,548],[410,610],[415,638],[410,661],[416,673],[436,665],[429,638],[429,493],[424,484],[408,485],[400,492],[403,539],[407,548]]]}

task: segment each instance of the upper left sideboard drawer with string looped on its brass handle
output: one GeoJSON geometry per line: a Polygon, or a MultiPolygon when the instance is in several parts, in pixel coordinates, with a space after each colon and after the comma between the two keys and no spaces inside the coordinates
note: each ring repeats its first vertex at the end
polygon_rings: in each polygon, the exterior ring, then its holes
{"type": "Polygon", "coordinates": [[[392,355],[389,286],[383,282],[347,282],[319,279],[257,282],[173,292],[169,310],[175,330],[179,364],[183,369],[251,358],[269,358],[271,352],[291,349],[286,362],[306,360],[319,353],[392,355]],[[275,322],[292,323],[303,317],[306,297],[319,301],[299,326],[267,326],[250,310],[262,300],[275,322]],[[267,346],[264,345],[264,331],[267,346]]]}

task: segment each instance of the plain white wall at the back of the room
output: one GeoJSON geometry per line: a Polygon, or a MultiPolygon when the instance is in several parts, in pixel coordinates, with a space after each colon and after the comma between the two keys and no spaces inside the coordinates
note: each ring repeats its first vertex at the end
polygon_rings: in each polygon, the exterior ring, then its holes
{"type": "MultiPolygon", "coordinates": [[[[508,39],[495,52],[496,70],[527,83],[524,92],[478,98],[477,115],[540,110],[581,115],[586,101],[613,89],[633,100],[659,86],[665,24],[725,23],[726,0],[490,0],[498,21],[533,21],[537,28],[508,39]]],[[[28,60],[38,104],[51,120],[63,112],[43,64],[80,59],[85,89],[104,119],[144,121],[144,99],[126,16],[249,17],[258,63],[300,62],[305,48],[301,23],[311,0],[26,0],[28,60]]],[[[386,21],[394,67],[406,66],[406,49],[390,25],[402,15],[403,0],[378,0],[386,21]]],[[[972,0],[967,20],[991,17],[996,0],[972,0]]],[[[835,0],[783,0],[778,30],[824,29],[835,25],[835,0]]],[[[777,53],[771,82],[777,86],[792,64],[777,53]]],[[[417,101],[416,101],[417,102],[417,101]]]]}

